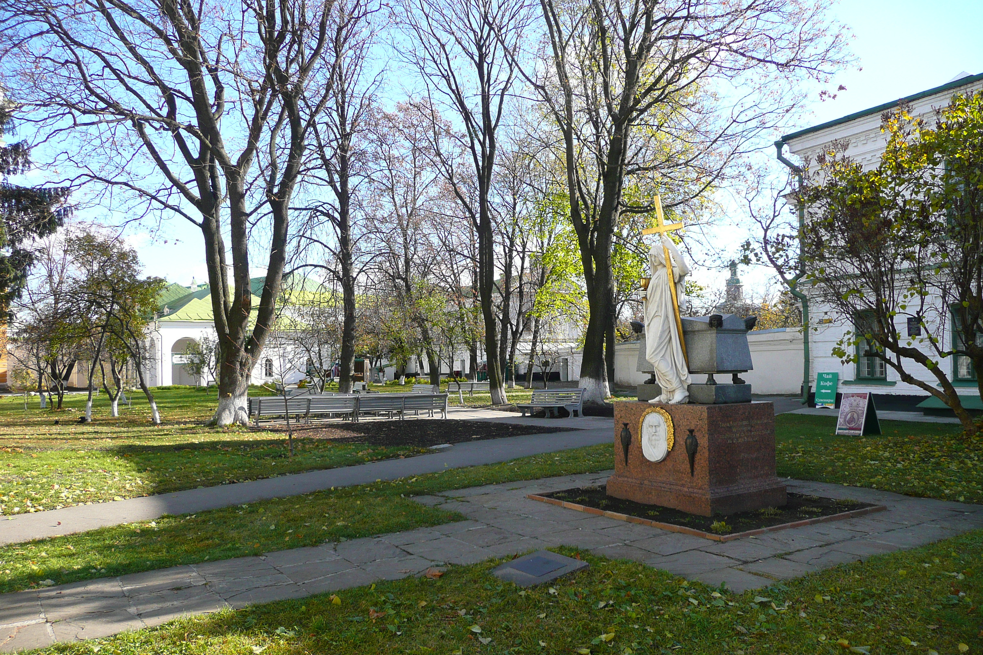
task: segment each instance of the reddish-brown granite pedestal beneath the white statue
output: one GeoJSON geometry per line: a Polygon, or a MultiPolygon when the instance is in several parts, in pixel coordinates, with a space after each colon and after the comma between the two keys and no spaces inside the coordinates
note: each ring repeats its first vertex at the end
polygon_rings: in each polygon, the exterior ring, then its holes
{"type": "Polygon", "coordinates": [[[771,403],[733,405],[614,404],[614,474],[607,495],[675,508],[704,517],[780,507],[785,486],[775,473],[775,409],[771,403]],[[661,408],[672,418],[674,444],[660,463],[642,455],[642,415],[661,408]],[[628,463],[621,428],[631,432],[628,463]],[[699,443],[690,474],[684,441],[692,428],[699,443]]]}

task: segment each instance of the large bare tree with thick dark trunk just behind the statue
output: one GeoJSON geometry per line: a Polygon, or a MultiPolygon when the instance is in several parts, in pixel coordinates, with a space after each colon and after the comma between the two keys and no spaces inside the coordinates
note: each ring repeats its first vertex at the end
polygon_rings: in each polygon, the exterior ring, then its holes
{"type": "Polygon", "coordinates": [[[670,210],[712,189],[799,104],[793,82],[838,66],[844,38],[826,22],[825,0],[540,4],[548,63],[523,70],[560,133],[590,305],[580,386],[599,404],[613,369],[615,230],[622,212],[653,209],[628,201],[626,180],[653,179],[670,210]],[[652,156],[651,139],[675,146],[652,156]]]}

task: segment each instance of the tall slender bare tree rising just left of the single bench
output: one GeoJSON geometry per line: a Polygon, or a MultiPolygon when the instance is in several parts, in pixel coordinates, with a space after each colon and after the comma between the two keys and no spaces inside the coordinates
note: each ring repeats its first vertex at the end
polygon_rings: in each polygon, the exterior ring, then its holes
{"type": "MultiPolygon", "coordinates": [[[[485,323],[492,404],[507,402],[499,359],[499,327],[493,310],[494,232],[492,182],[498,131],[516,82],[515,65],[505,48],[517,48],[528,23],[528,5],[518,0],[404,0],[399,20],[414,40],[406,58],[417,68],[428,92],[437,94],[460,120],[450,131],[455,147],[434,148],[441,172],[478,236],[478,290],[485,323]],[[475,193],[468,192],[457,154],[470,163],[475,193]]],[[[434,130],[438,122],[434,121],[434,130]]]]}

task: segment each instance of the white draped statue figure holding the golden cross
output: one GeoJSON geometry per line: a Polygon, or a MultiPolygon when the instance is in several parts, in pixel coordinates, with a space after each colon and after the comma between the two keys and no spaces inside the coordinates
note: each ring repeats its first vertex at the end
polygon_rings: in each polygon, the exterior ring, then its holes
{"type": "Polygon", "coordinates": [[[665,271],[665,249],[668,247],[676,298],[682,302],[689,267],[676,246],[663,235],[649,250],[649,269],[652,279],[645,296],[645,357],[656,370],[656,381],[662,388],[662,396],[650,403],[682,404],[689,401],[689,367],[682,355],[679,328],[675,320],[675,308],[669,291],[668,274],[665,271]]]}

